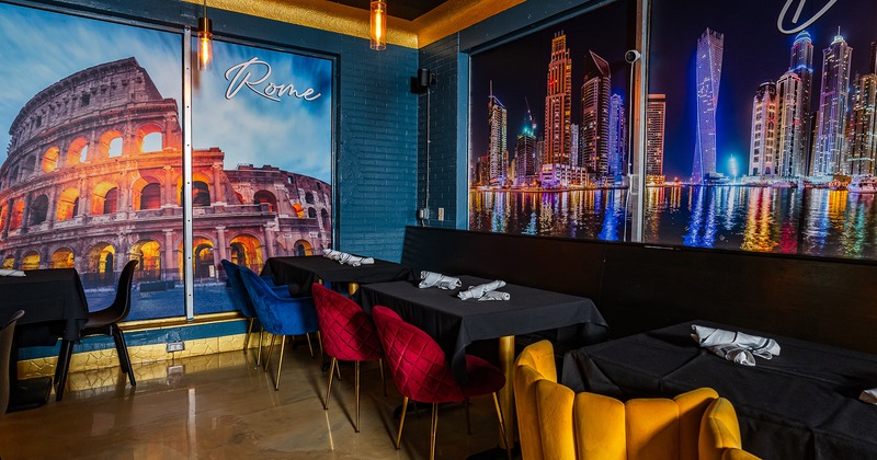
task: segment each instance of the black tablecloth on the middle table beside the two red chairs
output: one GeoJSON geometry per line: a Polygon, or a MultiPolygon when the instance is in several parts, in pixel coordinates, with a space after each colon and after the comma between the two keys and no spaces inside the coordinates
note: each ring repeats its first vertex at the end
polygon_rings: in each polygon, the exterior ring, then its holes
{"type": "MultiPolygon", "coordinates": [[[[459,278],[464,289],[490,281],[459,278]]],[[[412,281],[378,283],[362,286],[358,300],[366,312],[373,306],[388,307],[434,337],[449,358],[458,383],[466,382],[466,346],[475,341],[572,324],[584,324],[586,333],[599,341],[608,330],[590,299],[515,285],[499,290],[509,292],[511,300],[460,300],[456,297],[459,289],[420,289],[412,281]]]]}

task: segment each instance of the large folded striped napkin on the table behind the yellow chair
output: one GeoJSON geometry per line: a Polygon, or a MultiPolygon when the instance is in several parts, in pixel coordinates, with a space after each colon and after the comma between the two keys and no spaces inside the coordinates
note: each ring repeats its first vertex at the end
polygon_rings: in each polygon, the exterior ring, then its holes
{"type": "Polygon", "coordinates": [[[729,361],[755,366],[755,356],[771,359],[779,355],[779,344],[773,338],[699,326],[697,324],[693,324],[692,330],[694,330],[692,338],[695,342],[729,361]]]}

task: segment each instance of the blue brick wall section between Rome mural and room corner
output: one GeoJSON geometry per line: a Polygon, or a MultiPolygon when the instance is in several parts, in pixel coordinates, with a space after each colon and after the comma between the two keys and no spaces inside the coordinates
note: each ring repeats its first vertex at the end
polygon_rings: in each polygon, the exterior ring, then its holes
{"type": "Polygon", "coordinates": [[[418,51],[342,37],[339,61],[339,249],[398,261],[417,217],[418,51]]]}

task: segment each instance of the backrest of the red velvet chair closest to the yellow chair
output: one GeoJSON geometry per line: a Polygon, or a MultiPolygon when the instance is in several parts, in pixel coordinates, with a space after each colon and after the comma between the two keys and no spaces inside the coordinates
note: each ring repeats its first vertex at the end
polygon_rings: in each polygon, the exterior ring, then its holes
{"type": "Polygon", "coordinates": [[[372,308],[372,318],[392,380],[402,395],[424,403],[464,400],[445,353],[429,334],[405,322],[386,307],[372,308]]]}

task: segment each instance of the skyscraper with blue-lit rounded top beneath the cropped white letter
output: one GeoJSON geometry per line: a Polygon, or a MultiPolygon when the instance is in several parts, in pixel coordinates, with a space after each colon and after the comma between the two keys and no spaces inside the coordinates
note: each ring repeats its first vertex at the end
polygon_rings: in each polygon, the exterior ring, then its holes
{"type": "MultiPolygon", "coordinates": [[[[795,82],[789,79],[781,78],[777,82],[777,91],[781,97],[781,111],[783,107],[791,108],[796,106],[795,114],[786,110],[781,113],[781,126],[783,123],[796,123],[799,119],[797,128],[790,130],[786,126],[785,135],[787,136],[788,145],[782,147],[783,149],[789,148],[790,150],[781,151],[781,174],[804,176],[808,175],[810,168],[810,153],[812,151],[810,146],[811,127],[811,94],[813,92],[813,43],[810,41],[810,34],[804,31],[795,36],[795,44],[791,45],[791,53],[788,62],[789,72],[795,73],[799,81],[795,82]],[[797,84],[797,91],[794,87],[797,84]],[[795,101],[797,99],[797,101],[795,101]],[[797,102],[797,105],[793,105],[797,102]],[[791,158],[785,156],[786,151],[791,152],[791,158]],[[791,173],[788,174],[787,161],[791,163],[791,173]]],[[[785,76],[784,76],[785,77],[785,76]]]]}

